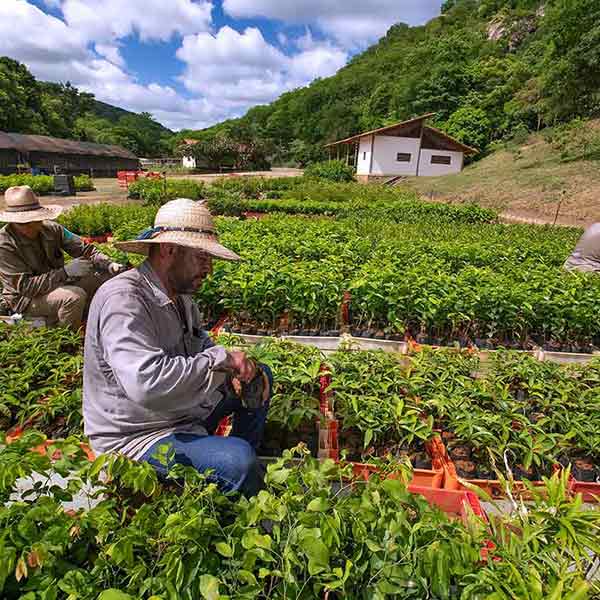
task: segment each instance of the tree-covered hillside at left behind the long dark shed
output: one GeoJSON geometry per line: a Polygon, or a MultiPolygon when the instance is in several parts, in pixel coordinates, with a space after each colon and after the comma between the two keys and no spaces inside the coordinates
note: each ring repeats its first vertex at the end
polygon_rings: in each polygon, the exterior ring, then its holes
{"type": "Polygon", "coordinates": [[[168,153],[172,137],[148,113],[98,102],[69,83],[37,81],[8,57],[0,57],[0,131],[117,144],[138,156],[168,153]]]}

